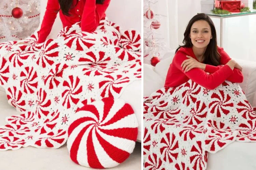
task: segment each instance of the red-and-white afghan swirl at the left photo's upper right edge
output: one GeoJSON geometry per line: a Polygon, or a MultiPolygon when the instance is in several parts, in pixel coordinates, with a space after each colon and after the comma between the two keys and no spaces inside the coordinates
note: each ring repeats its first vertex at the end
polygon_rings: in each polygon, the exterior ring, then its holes
{"type": "Polygon", "coordinates": [[[141,37],[138,31],[127,30],[121,35],[119,46],[127,50],[137,51],[141,48],[141,37]]]}

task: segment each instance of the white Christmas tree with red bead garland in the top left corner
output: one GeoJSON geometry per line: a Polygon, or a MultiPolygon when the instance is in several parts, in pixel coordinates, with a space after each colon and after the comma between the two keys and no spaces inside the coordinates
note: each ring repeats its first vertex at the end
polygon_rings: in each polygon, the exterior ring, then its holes
{"type": "Polygon", "coordinates": [[[0,0],[0,43],[29,37],[38,28],[40,0],[0,0]],[[19,7],[20,18],[12,16],[12,10],[19,7]]]}

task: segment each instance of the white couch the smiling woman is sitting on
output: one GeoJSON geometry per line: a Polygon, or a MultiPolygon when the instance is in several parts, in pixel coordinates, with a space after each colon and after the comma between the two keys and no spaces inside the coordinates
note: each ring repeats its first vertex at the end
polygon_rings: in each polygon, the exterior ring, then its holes
{"type": "MultiPolygon", "coordinates": [[[[143,65],[143,96],[163,87],[167,70],[172,62],[174,52],[165,56],[156,67],[143,65]]],[[[242,67],[244,81],[240,83],[247,100],[256,107],[256,62],[235,59],[242,67]]],[[[255,170],[256,169],[256,142],[234,141],[226,148],[215,154],[208,154],[207,170],[255,170]]]]}

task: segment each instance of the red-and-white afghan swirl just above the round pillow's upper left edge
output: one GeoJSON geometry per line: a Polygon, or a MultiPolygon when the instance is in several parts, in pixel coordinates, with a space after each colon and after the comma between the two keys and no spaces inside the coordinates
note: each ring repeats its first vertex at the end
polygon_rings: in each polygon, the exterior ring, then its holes
{"type": "Polygon", "coordinates": [[[76,95],[79,95],[83,91],[83,86],[79,82],[80,79],[76,77],[74,80],[73,75],[69,76],[69,81],[65,80],[63,82],[63,87],[66,87],[66,89],[61,94],[62,98],[64,98],[62,106],[66,105],[67,108],[70,108],[71,102],[74,104],[79,102],[80,99],[75,98],[76,95]]]}

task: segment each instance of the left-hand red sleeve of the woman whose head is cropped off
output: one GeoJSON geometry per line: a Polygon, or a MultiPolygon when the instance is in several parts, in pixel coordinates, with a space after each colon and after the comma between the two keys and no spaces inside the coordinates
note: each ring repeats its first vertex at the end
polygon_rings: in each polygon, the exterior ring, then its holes
{"type": "Polygon", "coordinates": [[[48,0],[37,43],[43,43],[50,34],[59,10],[58,0],[48,0]]]}

